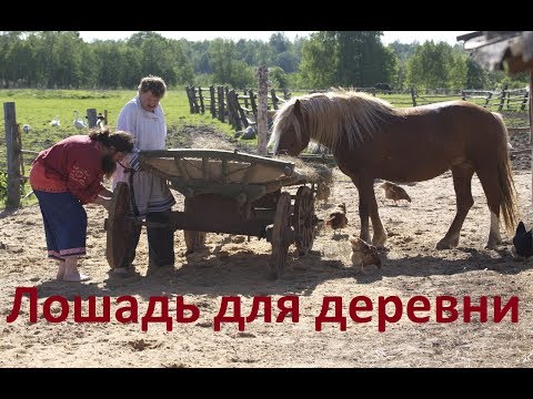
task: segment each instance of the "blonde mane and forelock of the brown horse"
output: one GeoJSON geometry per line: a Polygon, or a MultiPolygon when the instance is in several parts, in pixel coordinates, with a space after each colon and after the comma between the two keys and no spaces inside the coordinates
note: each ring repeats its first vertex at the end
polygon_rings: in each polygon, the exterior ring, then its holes
{"type": "Polygon", "coordinates": [[[311,140],[330,150],[335,149],[343,136],[348,136],[353,149],[371,139],[379,131],[380,122],[402,114],[389,102],[354,90],[332,89],[325,93],[306,94],[286,101],[276,112],[269,145],[276,147],[281,134],[290,129],[301,141],[301,126],[293,111],[296,100],[311,140]]]}

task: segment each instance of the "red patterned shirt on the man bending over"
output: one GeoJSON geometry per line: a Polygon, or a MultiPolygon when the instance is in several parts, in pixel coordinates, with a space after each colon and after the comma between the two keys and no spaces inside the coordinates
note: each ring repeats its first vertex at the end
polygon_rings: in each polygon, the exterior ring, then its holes
{"type": "Polygon", "coordinates": [[[31,167],[31,187],[71,192],[82,204],[93,201],[105,188],[100,146],[87,135],[73,135],[41,151],[31,167]]]}

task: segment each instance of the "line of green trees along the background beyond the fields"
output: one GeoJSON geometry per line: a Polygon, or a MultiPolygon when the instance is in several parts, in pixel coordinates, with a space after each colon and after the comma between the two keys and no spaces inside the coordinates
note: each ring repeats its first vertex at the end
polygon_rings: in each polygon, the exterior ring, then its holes
{"type": "Polygon", "coordinates": [[[140,76],[163,76],[170,88],[257,84],[266,65],[273,86],[326,89],[370,88],[379,82],[394,90],[521,88],[525,73],[507,76],[476,64],[460,43],[384,45],[381,31],[321,31],[289,40],[276,32],[268,41],[167,39],[152,31],[127,40],[84,42],[76,31],[0,32],[0,85],[3,89],[135,88],[140,76]]]}

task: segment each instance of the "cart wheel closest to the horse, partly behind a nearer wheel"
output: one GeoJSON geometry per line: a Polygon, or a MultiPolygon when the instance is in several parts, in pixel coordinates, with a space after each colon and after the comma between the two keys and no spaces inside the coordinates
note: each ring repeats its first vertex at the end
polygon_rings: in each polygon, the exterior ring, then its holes
{"type": "Polygon", "coordinates": [[[313,248],[318,223],[314,214],[313,192],[308,186],[301,186],[296,192],[292,226],[294,227],[294,244],[299,255],[306,255],[313,248]]]}

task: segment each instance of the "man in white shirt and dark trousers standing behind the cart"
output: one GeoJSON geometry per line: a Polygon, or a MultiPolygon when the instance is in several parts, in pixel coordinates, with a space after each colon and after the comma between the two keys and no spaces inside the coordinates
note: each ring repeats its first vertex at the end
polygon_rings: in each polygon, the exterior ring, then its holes
{"type": "MultiPolygon", "coordinates": [[[[113,176],[113,190],[118,182],[130,185],[131,214],[145,217],[147,222],[165,223],[175,204],[168,182],[153,173],[139,170],[139,151],[164,150],[167,122],[160,101],[167,84],[159,76],[141,79],[138,94],[120,111],[117,129],[129,132],[135,139],[133,151],[118,164],[113,176]]],[[[141,226],[135,226],[128,239],[121,267],[114,273],[131,273],[139,244],[141,226]]],[[[174,266],[174,229],[171,227],[147,227],[149,272],[174,266]]]]}

